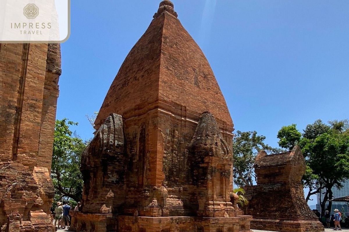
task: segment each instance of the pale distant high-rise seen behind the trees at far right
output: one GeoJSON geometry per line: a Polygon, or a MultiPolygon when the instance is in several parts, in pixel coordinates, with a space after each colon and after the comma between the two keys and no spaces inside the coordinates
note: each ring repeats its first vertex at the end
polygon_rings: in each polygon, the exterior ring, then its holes
{"type": "MultiPolygon", "coordinates": [[[[333,192],[333,199],[334,198],[340,198],[340,197],[346,197],[349,195],[349,179],[347,179],[345,182],[342,182],[343,187],[341,189],[338,189],[337,187],[333,187],[332,188],[332,192],[333,192]]],[[[325,190],[321,191],[321,201],[324,199],[325,196],[325,190]]],[[[317,198],[317,204],[316,204],[316,209],[321,211],[321,207],[320,207],[320,193],[316,194],[316,198],[317,198]]],[[[326,208],[328,206],[328,202],[326,203],[326,208]]],[[[339,209],[342,213],[345,213],[346,216],[349,215],[349,206],[347,202],[336,202],[333,201],[332,202],[332,209],[331,209],[331,214],[333,214],[333,210],[334,209],[339,209]],[[344,208],[344,210],[342,211],[342,208],[344,208]]]]}

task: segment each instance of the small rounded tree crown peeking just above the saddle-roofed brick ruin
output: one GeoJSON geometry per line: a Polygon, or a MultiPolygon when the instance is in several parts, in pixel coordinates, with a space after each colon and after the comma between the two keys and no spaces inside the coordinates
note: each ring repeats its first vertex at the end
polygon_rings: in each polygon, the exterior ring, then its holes
{"type": "Polygon", "coordinates": [[[302,134],[297,130],[297,125],[283,126],[277,133],[277,138],[280,139],[279,146],[285,149],[292,150],[298,144],[302,134]]]}

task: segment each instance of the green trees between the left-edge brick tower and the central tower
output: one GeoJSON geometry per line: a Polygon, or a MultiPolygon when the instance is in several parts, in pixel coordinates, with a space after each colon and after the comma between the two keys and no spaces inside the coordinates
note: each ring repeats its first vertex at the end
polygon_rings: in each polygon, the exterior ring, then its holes
{"type": "Polygon", "coordinates": [[[55,202],[62,199],[80,201],[82,198],[80,160],[86,144],[69,128],[77,124],[67,119],[56,120],[55,123],[51,167],[55,202]]]}

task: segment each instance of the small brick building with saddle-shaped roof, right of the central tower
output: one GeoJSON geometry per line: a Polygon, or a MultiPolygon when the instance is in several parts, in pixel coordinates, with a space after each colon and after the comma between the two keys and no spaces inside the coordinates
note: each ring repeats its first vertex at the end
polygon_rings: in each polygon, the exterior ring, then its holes
{"type": "Polygon", "coordinates": [[[304,199],[305,160],[298,146],[290,152],[267,155],[254,163],[257,185],[245,187],[251,228],[281,232],[318,232],[324,227],[304,199]]]}

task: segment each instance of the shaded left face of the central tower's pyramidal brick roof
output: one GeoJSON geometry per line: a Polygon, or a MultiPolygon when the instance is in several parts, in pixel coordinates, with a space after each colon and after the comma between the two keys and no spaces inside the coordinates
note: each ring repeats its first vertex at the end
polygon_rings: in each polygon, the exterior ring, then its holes
{"type": "Polygon", "coordinates": [[[158,100],[162,23],[153,21],[122,63],[99,110],[96,129],[110,113],[118,113],[126,119],[129,118],[127,113],[158,100]]]}

